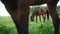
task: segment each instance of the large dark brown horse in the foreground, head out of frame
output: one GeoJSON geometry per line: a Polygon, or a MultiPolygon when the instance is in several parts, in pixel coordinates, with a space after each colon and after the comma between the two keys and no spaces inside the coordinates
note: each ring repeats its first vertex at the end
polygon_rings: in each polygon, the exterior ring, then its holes
{"type": "Polygon", "coordinates": [[[59,17],[56,11],[59,0],[0,0],[11,15],[18,34],[28,34],[29,6],[46,3],[53,20],[54,34],[59,34],[59,17]]]}

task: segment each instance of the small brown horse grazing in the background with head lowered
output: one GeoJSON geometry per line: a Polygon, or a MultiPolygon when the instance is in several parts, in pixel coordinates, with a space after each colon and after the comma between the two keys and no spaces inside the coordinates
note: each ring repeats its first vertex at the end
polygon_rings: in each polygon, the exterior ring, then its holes
{"type": "Polygon", "coordinates": [[[35,10],[32,12],[31,15],[31,21],[34,21],[34,17],[36,16],[36,22],[37,22],[37,16],[39,16],[39,19],[41,21],[40,15],[42,15],[44,22],[47,16],[47,20],[49,20],[49,12],[46,8],[44,7],[37,7],[35,10]]]}

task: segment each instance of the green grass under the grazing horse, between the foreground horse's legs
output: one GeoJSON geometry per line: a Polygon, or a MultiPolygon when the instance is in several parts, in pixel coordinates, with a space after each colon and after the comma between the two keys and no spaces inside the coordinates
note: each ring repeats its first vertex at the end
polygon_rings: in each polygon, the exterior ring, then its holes
{"type": "MultiPolygon", "coordinates": [[[[42,17],[41,17],[42,19],[42,17]]],[[[36,19],[34,22],[31,22],[29,20],[29,34],[53,34],[54,32],[54,27],[52,24],[52,19],[50,17],[49,21],[43,22],[43,19],[41,22],[39,21],[39,18],[37,20],[38,22],[36,23],[36,19]]]]}

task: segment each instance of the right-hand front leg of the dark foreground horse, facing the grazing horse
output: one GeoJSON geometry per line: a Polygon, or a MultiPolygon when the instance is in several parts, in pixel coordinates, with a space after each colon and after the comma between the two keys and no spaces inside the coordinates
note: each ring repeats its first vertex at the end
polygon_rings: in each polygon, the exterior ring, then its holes
{"type": "Polygon", "coordinates": [[[18,32],[19,34],[28,34],[29,6],[18,8],[18,11],[20,11],[19,21],[17,23],[18,32]]]}

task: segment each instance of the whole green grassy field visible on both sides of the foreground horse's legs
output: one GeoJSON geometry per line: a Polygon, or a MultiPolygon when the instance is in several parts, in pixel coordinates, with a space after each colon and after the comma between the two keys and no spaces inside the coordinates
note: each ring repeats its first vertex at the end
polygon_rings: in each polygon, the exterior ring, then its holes
{"type": "MultiPolygon", "coordinates": [[[[33,8],[34,9],[34,8],[33,8]]],[[[57,8],[58,11],[59,7],[57,8]]],[[[31,11],[33,11],[32,9],[30,9],[30,14],[31,11]]],[[[58,14],[60,14],[58,12],[58,14]]],[[[53,27],[53,23],[52,23],[52,19],[51,16],[49,17],[49,21],[43,22],[43,18],[41,17],[41,22],[39,21],[38,18],[38,22],[36,23],[36,19],[34,18],[34,22],[31,22],[30,18],[29,18],[29,34],[54,34],[54,27],[53,27]]],[[[15,27],[15,24],[13,22],[13,20],[11,19],[11,17],[9,16],[5,16],[2,17],[0,16],[0,34],[18,34],[17,29],[15,27]]]]}

